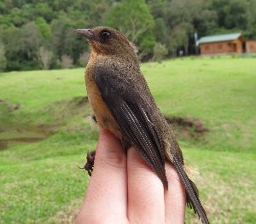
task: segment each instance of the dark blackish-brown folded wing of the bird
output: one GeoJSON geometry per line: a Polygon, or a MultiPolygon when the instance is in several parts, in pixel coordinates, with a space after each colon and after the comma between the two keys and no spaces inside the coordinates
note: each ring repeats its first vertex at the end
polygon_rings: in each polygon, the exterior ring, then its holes
{"type": "Polygon", "coordinates": [[[150,118],[151,107],[118,71],[96,66],[96,86],[122,131],[125,141],[135,146],[168,187],[165,154],[150,118]],[[115,73],[116,72],[116,73],[115,73]]]}

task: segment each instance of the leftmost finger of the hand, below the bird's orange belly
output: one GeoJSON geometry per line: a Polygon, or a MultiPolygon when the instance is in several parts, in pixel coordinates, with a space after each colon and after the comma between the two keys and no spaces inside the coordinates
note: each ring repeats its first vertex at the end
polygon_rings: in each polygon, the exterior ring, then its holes
{"type": "Polygon", "coordinates": [[[94,164],[76,223],[97,223],[102,217],[104,221],[126,219],[126,155],[120,141],[107,130],[100,133],[94,164]]]}

